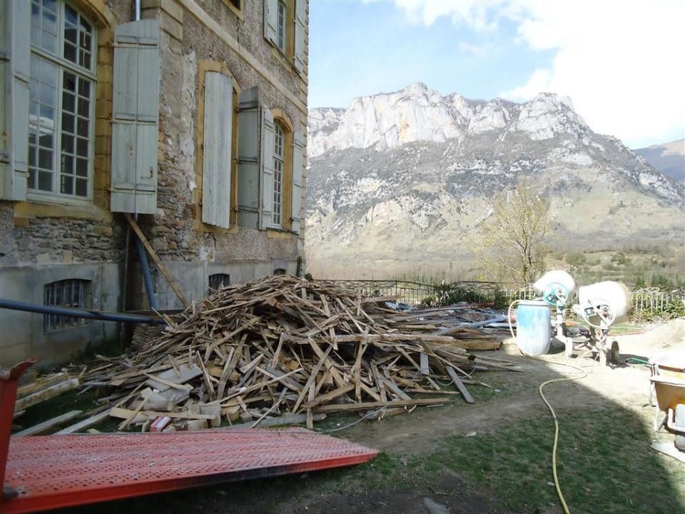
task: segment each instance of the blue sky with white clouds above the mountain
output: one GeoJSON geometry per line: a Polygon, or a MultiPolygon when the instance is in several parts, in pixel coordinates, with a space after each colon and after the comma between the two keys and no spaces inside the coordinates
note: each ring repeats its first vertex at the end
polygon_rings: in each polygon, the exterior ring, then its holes
{"type": "Polygon", "coordinates": [[[309,106],[423,82],[440,94],[569,96],[639,148],[685,137],[685,0],[310,0],[309,106]]]}

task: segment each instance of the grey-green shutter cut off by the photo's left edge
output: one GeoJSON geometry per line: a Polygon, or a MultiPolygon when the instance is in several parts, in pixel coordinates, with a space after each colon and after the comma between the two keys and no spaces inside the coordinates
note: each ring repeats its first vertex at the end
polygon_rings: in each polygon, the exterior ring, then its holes
{"type": "Polygon", "coordinates": [[[2,1],[0,198],[19,201],[26,200],[26,178],[29,176],[31,2],[2,1]]]}

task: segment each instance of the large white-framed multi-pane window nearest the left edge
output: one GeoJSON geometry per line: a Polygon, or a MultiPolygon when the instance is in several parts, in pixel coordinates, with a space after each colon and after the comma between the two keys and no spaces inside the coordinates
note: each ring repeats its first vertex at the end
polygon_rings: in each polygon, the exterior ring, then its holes
{"type": "Polygon", "coordinates": [[[61,0],[31,0],[29,190],[88,198],[95,28],[61,0]]]}

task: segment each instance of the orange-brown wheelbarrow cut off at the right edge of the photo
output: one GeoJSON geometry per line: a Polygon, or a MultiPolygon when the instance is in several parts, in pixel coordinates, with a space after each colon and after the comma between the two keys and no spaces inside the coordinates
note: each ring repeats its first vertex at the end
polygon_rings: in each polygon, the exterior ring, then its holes
{"type": "Polygon", "coordinates": [[[654,429],[664,425],[676,435],[676,448],[685,452],[685,358],[667,355],[656,359],[649,377],[656,393],[654,429]]]}

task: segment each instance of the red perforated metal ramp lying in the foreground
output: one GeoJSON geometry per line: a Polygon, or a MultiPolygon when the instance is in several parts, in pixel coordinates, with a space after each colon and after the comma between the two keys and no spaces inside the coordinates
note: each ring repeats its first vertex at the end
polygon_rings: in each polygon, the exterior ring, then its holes
{"type": "Polygon", "coordinates": [[[11,438],[0,513],[363,463],[376,450],[301,428],[11,438]]]}

